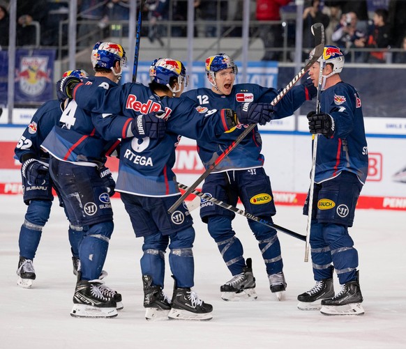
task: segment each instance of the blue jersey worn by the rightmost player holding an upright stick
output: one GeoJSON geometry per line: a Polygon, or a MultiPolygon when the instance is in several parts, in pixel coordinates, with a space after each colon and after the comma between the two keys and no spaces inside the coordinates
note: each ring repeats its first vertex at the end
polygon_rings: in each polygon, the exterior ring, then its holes
{"type": "Polygon", "coordinates": [[[344,82],[327,88],[320,95],[320,110],[335,123],[333,137],[317,139],[315,182],[322,183],[349,171],[365,184],[368,175],[368,148],[361,98],[356,89],[344,82]]]}

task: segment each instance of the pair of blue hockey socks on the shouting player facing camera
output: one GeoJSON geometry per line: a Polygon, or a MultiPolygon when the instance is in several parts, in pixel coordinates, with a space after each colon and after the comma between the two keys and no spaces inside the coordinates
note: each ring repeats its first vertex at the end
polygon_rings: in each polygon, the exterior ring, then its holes
{"type": "MultiPolygon", "coordinates": [[[[271,216],[263,218],[272,222],[271,216]]],[[[281,272],[283,270],[283,261],[276,230],[252,220],[248,220],[248,224],[258,241],[262,258],[264,258],[266,273],[276,274],[281,272]]],[[[241,241],[232,230],[232,217],[218,215],[208,217],[208,229],[232,275],[240,274],[246,263],[243,258],[241,241]]]]}

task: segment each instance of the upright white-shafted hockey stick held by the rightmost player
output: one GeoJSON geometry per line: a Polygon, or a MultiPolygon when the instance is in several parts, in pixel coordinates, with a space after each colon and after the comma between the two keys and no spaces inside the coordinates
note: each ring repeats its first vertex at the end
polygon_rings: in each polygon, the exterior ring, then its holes
{"type": "MultiPolygon", "coordinates": [[[[313,28],[312,28],[313,30],[313,28]]],[[[324,52],[324,26],[322,24],[322,42],[323,42],[323,52],[324,52]]],[[[322,53],[323,53],[322,52],[322,53]]],[[[320,112],[320,93],[322,92],[322,74],[326,62],[324,59],[320,62],[319,69],[319,81],[317,82],[317,97],[316,97],[316,113],[320,112]]],[[[310,189],[309,189],[309,199],[308,199],[308,222],[306,226],[306,245],[305,245],[305,258],[304,261],[309,261],[309,247],[310,247],[310,227],[312,225],[312,215],[313,215],[313,192],[315,190],[315,171],[316,171],[316,155],[317,155],[317,139],[318,134],[313,137],[313,153],[312,153],[312,169],[310,172],[310,189]]]]}

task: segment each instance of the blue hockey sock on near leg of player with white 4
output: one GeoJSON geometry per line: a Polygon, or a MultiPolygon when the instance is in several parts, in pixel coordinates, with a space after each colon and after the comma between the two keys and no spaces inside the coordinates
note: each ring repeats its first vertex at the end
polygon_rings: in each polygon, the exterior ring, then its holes
{"type": "Polygon", "coordinates": [[[112,221],[84,227],[79,246],[81,280],[94,280],[100,277],[113,228],[112,221]]]}

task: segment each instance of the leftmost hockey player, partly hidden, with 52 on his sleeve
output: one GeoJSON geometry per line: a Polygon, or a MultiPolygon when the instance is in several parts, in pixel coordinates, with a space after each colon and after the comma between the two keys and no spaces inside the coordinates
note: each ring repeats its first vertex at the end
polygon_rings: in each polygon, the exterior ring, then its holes
{"type": "MultiPolygon", "coordinates": [[[[63,74],[63,77],[67,76],[87,79],[87,72],[68,70],[63,74]]],[[[40,145],[52,127],[59,124],[59,118],[65,107],[63,102],[63,100],[45,102],[33,115],[15,147],[15,158],[22,163],[23,200],[28,205],[18,240],[20,260],[17,268],[17,285],[23,288],[31,288],[33,280],[36,279],[33,258],[40,244],[43,227],[50,218],[54,200],[53,183],[48,172],[50,156],[40,148],[40,145]]],[[[60,205],[63,205],[61,200],[60,205]]],[[[79,264],[78,245],[82,239],[81,230],[80,226],[72,224],[68,228],[74,273],[79,264]]]]}

